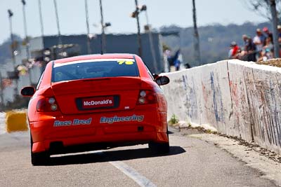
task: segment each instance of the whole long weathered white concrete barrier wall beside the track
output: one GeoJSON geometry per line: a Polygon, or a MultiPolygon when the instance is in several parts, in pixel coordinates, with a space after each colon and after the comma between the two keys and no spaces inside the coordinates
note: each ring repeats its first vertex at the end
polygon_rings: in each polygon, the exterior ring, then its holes
{"type": "Polygon", "coordinates": [[[209,124],[281,153],[281,69],[225,60],[166,74],[168,118],[209,124]]]}

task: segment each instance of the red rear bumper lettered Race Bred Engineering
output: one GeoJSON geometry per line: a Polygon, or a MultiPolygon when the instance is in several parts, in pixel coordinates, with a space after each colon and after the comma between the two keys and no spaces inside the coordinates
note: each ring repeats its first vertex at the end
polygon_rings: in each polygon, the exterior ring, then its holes
{"type": "MultiPolygon", "coordinates": [[[[50,145],[63,148],[93,144],[119,146],[149,141],[168,142],[166,113],[157,109],[89,113],[84,115],[41,116],[30,123],[32,152],[48,151],[50,145]]],[[[99,146],[96,146],[99,147],[99,146]]]]}

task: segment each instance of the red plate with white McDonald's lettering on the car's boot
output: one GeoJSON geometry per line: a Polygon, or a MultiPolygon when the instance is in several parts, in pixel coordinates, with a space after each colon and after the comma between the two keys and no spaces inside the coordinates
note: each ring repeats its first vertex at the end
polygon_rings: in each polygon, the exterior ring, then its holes
{"type": "Polygon", "coordinates": [[[113,96],[91,97],[82,99],[83,109],[95,109],[100,107],[114,106],[113,96]]]}

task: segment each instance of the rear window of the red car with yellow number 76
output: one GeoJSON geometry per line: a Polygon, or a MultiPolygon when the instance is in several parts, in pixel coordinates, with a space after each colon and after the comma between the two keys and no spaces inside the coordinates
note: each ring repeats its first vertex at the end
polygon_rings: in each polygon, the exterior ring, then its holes
{"type": "Polygon", "coordinates": [[[117,76],[139,76],[136,61],[133,59],[81,60],[54,64],[52,82],[117,76]]]}

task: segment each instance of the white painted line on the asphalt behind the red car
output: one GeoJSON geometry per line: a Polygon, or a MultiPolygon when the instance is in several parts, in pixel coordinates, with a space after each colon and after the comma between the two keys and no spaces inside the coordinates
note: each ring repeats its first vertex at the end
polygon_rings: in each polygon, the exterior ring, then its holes
{"type": "Polygon", "coordinates": [[[110,164],[114,165],[117,169],[119,169],[121,172],[126,174],[126,176],[129,176],[131,179],[133,179],[133,181],[138,183],[139,186],[156,187],[154,183],[148,180],[145,176],[139,174],[132,167],[129,167],[129,165],[126,165],[124,162],[114,161],[114,162],[110,162],[110,164]]]}

